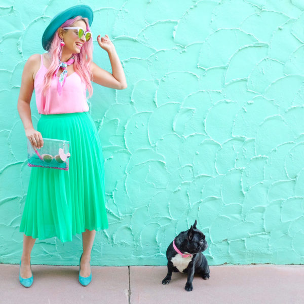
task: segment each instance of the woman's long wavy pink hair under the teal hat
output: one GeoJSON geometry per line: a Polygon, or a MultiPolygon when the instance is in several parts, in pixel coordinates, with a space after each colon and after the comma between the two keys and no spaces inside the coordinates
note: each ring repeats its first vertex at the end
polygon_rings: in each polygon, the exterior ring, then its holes
{"type": "MultiPolygon", "coordinates": [[[[66,20],[60,27],[68,27],[75,23],[76,21],[83,20],[87,25],[87,31],[90,31],[90,26],[87,18],[82,16],[77,16],[73,19],[66,20]]],[[[58,59],[61,59],[61,50],[60,46],[61,39],[59,37],[58,31],[56,30],[51,44],[48,46],[48,51],[51,55],[51,65],[48,68],[45,78],[44,78],[44,87],[42,90],[43,95],[46,95],[48,88],[51,86],[51,80],[53,77],[56,77],[55,71],[58,68],[58,59]]],[[[86,84],[86,87],[89,91],[89,97],[93,94],[93,87],[91,84],[92,72],[90,69],[90,63],[93,58],[93,42],[92,38],[86,42],[79,54],[73,54],[74,56],[74,70],[77,72],[83,82],[86,84]]]]}

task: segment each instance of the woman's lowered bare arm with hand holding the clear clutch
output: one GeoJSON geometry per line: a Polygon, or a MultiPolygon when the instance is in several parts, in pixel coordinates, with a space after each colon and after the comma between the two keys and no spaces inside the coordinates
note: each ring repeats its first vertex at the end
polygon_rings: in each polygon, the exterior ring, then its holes
{"type": "Polygon", "coordinates": [[[33,75],[39,68],[39,64],[39,54],[30,56],[26,61],[22,72],[21,88],[17,104],[17,109],[23,123],[25,135],[31,142],[32,146],[36,148],[43,146],[43,138],[41,133],[39,131],[36,131],[33,127],[29,104],[34,90],[33,75]]]}

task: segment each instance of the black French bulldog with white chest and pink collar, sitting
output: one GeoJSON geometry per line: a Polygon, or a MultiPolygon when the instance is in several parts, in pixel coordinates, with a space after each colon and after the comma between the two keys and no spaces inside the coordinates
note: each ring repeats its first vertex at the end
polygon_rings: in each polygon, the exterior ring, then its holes
{"type": "Polygon", "coordinates": [[[172,272],[187,273],[186,291],[193,290],[194,274],[200,274],[204,280],[209,279],[210,269],[205,255],[202,253],[208,244],[204,234],[197,229],[197,220],[187,231],[182,231],[167,249],[168,273],[163,284],[169,284],[172,272]],[[176,249],[175,249],[175,248],[176,249]],[[179,252],[178,252],[179,251],[179,252]]]}

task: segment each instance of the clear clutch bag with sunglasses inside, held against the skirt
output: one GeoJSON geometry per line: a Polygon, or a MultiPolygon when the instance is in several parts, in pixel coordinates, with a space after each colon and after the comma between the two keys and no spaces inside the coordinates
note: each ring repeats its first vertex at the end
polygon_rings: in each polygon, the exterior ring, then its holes
{"type": "Polygon", "coordinates": [[[51,138],[43,141],[43,147],[35,149],[27,139],[28,166],[68,170],[69,141],[51,138]]]}

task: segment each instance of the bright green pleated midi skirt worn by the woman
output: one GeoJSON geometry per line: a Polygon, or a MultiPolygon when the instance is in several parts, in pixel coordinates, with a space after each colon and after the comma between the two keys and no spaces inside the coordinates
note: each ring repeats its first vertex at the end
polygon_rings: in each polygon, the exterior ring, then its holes
{"type": "Polygon", "coordinates": [[[86,229],[107,229],[103,156],[91,115],[42,115],[37,130],[70,142],[69,169],[31,168],[20,232],[67,242],[86,229]]]}

